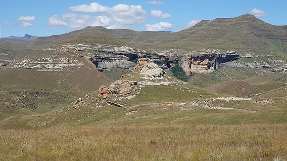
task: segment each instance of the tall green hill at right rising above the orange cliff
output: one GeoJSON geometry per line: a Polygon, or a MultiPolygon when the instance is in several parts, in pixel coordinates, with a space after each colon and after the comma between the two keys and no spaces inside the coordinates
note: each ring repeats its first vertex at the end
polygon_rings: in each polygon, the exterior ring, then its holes
{"type": "MultiPolygon", "coordinates": [[[[157,47],[216,48],[221,50],[252,51],[267,54],[279,51],[286,54],[286,31],[265,23],[252,15],[245,14],[236,18],[217,18],[201,21],[189,29],[159,37],[157,47]],[[276,42],[274,45],[272,42],[276,42]],[[268,44],[268,45],[267,45],[268,44]]],[[[286,56],[286,55],[285,55],[286,56]]]]}

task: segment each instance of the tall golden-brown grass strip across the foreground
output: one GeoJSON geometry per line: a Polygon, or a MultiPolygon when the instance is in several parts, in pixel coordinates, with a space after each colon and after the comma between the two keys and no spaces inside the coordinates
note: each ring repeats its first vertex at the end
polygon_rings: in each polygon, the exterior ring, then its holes
{"type": "Polygon", "coordinates": [[[287,159],[287,124],[0,130],[0,160],[287,159]]]}

